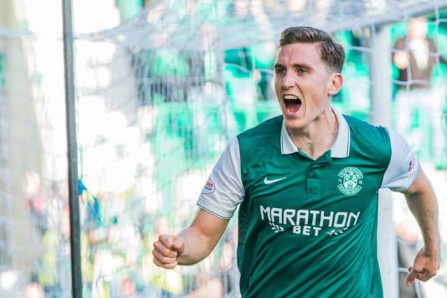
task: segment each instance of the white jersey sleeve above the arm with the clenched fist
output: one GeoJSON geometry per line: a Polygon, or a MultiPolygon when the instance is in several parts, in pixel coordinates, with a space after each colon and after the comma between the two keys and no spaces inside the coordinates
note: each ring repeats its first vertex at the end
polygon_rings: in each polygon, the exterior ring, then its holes
{"type": "Polygon", "coordinates": [[[214,165],[197,204],[220,218],[228,219],[243,199],[239,142],[235,137],[214,165]]]}

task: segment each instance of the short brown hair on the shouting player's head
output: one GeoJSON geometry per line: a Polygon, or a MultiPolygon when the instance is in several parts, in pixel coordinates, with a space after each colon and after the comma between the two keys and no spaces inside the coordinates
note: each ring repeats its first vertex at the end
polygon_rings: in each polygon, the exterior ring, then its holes
{"type": "Polygon", "coordinates": [[[326,31],[312,27],[288,27],[281,33],[279,46],[292,43],[318,43],[321,61],[337,73],[342,72],[345,56],[343,46],[326,31]]]}

